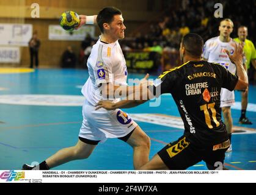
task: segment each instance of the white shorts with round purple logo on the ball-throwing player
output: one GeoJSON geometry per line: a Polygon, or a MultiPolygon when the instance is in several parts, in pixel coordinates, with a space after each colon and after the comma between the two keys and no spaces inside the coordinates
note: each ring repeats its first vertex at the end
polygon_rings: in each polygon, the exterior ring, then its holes
{"type": "Polygon", "coordinates": [[[104,142],[108,138],[122,138],[137,127],[137,123],[122,110],[95,110],[88,101],[82,106],[82,116],[79,137],[88,140],[104,142]]]}

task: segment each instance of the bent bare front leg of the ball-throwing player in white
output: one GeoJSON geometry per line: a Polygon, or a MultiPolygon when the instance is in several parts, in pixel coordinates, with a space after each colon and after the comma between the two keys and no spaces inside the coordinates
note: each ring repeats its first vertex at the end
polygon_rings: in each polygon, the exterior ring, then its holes
{"type": "Polygon", "coordinates": [[[127,140],[127,143],[133,147],[134,169],[139,169],[149,160],[150,138],[141,127],[137,126],[131,134],[131,137],[127,140]]]}

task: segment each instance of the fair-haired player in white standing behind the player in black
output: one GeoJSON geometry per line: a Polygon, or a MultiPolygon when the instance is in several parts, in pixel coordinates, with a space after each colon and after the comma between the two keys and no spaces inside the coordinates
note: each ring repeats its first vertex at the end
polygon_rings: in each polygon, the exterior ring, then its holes
{"type": "MultiPolygon", "coordinates": [[[[223,19],[219,26],[220,35],[218,37],[210,38],[205,42],[203,48],[203,59],[208,62],[219,63],[220,65],[227,68],[230,73],[236,74],[236,66],[230,62],[229,56],[226,54],[225,50],[233,55],[237,44],[230,38],[230,34],[233,31],[233,22],[231,19],[223,19]]],[[[231,106],[235,104],[235,93],[234,91],[229,91],[225,88],[221,89],[221,108],[224,116],[224,123],[227,127],[227,132],[231,139],[232,135],[232,116],[231,116],[231,106]]],[[[230,147],[227,152],[231,151],[230,147]]]]}

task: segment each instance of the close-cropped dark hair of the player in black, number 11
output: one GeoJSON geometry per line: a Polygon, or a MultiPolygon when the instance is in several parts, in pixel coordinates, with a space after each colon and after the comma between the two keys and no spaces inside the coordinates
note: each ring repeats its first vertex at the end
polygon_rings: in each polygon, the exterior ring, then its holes
{"type": "Polygon", "coordinates": [[[186,34],[181,44],[185,47],[185,51],[189,53],[189,55],[193,55],[195,57],[200,57],[203,52],[203,39],[200,35],[189,33],[186,34]]]}

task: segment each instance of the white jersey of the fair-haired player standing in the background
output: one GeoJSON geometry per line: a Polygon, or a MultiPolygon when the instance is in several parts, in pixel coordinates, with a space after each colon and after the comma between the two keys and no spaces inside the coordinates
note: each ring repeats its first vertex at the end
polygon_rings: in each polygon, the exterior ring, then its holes
{"type": "Polygon", "coordinates": [[[225,49],[227,49],[233,55],[235,47],[236,43],[232,38],[229,42],[222,42],[219,37],[210,38],[203,47],[203,58],[208,59],[208,62],[219,63],[225,66],[230,73],[235,74],[236,66],[230,62],[229,56],[225,52],[225,49]]]}

